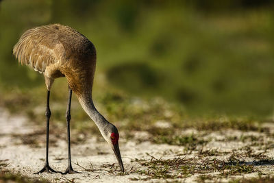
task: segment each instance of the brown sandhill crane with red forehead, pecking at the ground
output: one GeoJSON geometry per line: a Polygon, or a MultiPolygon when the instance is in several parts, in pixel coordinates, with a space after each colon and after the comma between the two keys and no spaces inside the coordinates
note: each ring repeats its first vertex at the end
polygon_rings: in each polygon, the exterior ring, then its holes
{"type": "Polygon", "coordinates": [[[46,158],[45,166],[36,173],[79,173],[71,165],[71,95],[74,93],[84,111],[95,122],[101,135],[110,145],[121,171],[123,161],[119,149],[119,132],[115,125],[101,115],[92,100],[92,85],[95,76],[97,54],[95,46],[77,30],[59,23],[42,25],[28,29],[13,47],[13,54],[21,64],[29,65],[42,73],[47,87],[46,105],[46,158]],[[58,77],[66,77],[69,88],[66,106],[66,127],[68,143],[68,167],[64,172],[55,171],[49,166],[49,108],[50,91],[58,77]]]}

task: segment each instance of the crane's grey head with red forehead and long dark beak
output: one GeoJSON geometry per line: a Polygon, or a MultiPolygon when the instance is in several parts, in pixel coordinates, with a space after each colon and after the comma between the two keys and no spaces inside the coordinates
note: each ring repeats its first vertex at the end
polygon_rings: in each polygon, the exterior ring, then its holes
{"type": "Polygon", "coordinates": [[[103,137],[105,138],[105,141],[108,142],[110,147],[112,147],[112,150],[114,151],[114,154],[119,162],[119,165],[121,167],[121,171],[124,172],[124,165],[120,154],[119,149],[119,132],[117,128],[112,125],[112,123],[109,123],[109,125],[105,128],[103,137]]]}

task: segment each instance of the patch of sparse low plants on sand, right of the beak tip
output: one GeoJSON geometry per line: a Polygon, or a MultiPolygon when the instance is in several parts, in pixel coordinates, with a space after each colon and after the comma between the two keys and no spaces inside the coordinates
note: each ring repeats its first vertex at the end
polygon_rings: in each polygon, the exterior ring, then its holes
{"type": "Polygon", "coordinates": [[[164,179],[176,180],[178,178],[187,178],[193,174],[198,174],[198,181],[206,179],[219,179],[231,175],[243,175],[257,171],[253,164],[240,163],[238,160],[228,158],[226,161],[216,158],[173,158],[162,159],[155,158],[149,154],[149,159],[134,159],[132,162],[138,162],[145,169],[136,169],[135,172],[140,175],[146,175],[145,178],[132,178],[132,180],[151,180],[164,179]],[[207,173],[217,172],[214,175],[207,173]]]}

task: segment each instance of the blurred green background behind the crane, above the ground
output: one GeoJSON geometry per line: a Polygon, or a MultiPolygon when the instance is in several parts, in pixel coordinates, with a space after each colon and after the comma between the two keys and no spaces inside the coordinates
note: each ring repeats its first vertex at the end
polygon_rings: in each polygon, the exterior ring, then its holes
{"type": "MultiPolygon", "coordinates": [[[[127,96],[160,97],[190,116],[269,119],[274,110],[273,10],[274,1],[251,0],[2,0],[0,105],[16,112],[31,106],[30,115],[36,106],[45,106],[44,78],[20,66],[12,47],[29,28],[61,23],[95,44],[93,93],[110,118],[119,120],[117,112],[125,112],[121,98],[127,96]]],[[[66,92],[66,80],[57,80],[53,108],[66,103],[66,92]]]]}

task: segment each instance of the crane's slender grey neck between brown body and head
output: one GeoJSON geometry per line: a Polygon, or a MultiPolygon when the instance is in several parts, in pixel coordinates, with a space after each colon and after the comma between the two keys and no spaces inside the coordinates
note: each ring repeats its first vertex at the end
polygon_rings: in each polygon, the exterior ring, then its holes
{"type": "Polygon", "coordinates": [[[84,111],[88,114],[90,119],[95,122],[101,134],[104,136],[105,127],[107,127],[110,123],[95,108],[91,93],[88,95],[79,96],[78,99],[84,111]]]}

